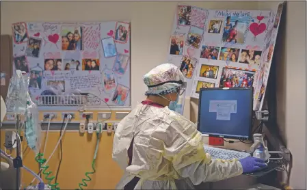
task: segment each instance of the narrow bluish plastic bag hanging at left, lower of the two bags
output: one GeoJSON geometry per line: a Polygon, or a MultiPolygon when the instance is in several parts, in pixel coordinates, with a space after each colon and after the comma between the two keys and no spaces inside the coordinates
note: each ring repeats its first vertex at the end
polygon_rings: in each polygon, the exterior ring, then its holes
{"type": "Polygon", "coordinates": [[[25,138],[27,139],[29,148],[38,154],[41,146],[42,128],[38,118],[38,107],[31,100],[29,93],[27,96],[27,109],[25,112],[25,138]]]}

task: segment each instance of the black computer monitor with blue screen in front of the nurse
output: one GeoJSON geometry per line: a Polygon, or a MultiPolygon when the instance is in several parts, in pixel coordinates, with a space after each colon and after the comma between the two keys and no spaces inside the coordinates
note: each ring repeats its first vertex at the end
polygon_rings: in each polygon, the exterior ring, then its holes
{"type": "Polygon", "coordinates": [[[253,88],[200,89],[198,131],[212,137],[251,139],[253,88]]]}

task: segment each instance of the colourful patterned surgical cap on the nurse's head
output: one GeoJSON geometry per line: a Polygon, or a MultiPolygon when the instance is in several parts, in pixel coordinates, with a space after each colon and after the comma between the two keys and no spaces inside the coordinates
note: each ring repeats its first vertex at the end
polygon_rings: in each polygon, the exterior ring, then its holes
{"type": "Polygon", "coordinates": [[[178,87],[181,87],[181,83],[184,80],[183,73],[177,66],[161,64],[144,75],[144,83],[148,87],[145,94],[170,94],[177,92],[178,87]],[[151,85],[156,86],[150,87],[151,85]]]}

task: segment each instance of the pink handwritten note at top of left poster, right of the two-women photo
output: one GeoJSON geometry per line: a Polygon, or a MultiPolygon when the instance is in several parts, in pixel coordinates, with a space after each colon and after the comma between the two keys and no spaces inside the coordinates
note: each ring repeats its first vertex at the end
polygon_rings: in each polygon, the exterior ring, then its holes
{"type": "Polygon", "coordinates": [[[100,25],[92,25],[90,27],[85,27],[83,35],[83,44],[85,49],[96,50],[100,43],[100,25]]]}

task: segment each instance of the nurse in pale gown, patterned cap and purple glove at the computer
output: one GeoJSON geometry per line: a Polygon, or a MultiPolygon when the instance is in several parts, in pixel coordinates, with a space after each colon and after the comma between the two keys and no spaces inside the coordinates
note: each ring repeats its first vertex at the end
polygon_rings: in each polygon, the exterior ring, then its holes
{"type": "Polygon", "coordinates": [[[116,189],[194,189],[267,167],[261,159],[212,160],[193,122],[168,108],[184,92],[182,72],[161,64],[145,74],[146,100],[116,130],[113,159],[124,169],[116,189]]]}

